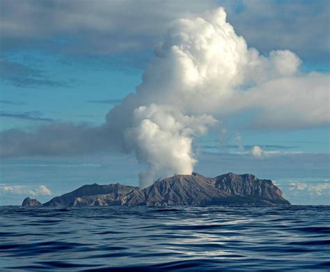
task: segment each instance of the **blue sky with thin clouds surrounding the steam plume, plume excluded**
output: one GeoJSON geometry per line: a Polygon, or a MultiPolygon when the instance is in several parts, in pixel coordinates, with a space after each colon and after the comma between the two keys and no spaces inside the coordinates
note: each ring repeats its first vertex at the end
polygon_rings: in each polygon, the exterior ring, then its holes
{"type": "MultiPolygon", "coordinates": [[[[139,8],[96,1],[94,10],[89,1],[1,1],[1,136],[63,122],[102,126],[142,82],[172,22],[218,6],[249,47],[265,55],[289,49],[302,61],[300,72],[329,78],[328,1],[141,1],[139,8]]],[[[211,177],[253,173],[274,180],[293,204],[330,205],[329,117],[315,125],[253,127],[255,114],[223,115],[221,127],[194,139],[194,170],[211,177]],[[255,146],[261,154],[253,154],[255,146]]],[[[47,201],[93,182],[137,186],[145,168],[134,152],[29,150],[1,157],[0,205],[19,205],[27,195],[47,201]]]]}

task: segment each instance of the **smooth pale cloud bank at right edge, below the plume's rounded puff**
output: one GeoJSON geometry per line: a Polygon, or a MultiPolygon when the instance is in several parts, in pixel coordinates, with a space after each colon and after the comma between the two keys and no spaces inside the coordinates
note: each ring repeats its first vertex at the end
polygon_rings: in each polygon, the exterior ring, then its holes
{"type": "Polygon", "coordinates": [[[261,83],[244,93],[242,109],[257,109],[255,127],[294,129],[330,124],[329,74],[312,72],[261,83]]]}

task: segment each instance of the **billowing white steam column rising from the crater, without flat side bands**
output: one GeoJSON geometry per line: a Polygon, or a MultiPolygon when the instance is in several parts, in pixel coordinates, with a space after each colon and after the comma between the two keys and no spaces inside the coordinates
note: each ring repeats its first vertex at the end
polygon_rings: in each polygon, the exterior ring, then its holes
{"type": "Polygon", "coordinates": [[[230,111],[226,101],[233,110],[253,104],[258,95],[242,99],[240,86],[292,75],[299,63],[290,51],[265,57],[249,49],[223,8],[180,19],[155,49],[136,93],[108,113],[107,124],[123,148],[146,163],[142,188],[158,177],[191,174],[191,143],[217,122],[210,114],[230,111]]]}

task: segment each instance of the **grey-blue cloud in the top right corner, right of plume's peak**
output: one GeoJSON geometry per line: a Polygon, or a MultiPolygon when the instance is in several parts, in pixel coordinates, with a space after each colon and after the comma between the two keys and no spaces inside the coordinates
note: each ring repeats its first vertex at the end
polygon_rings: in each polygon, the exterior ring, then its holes
{"type": "Polygon", "coordinates": [[[328,1],[242,0],[227,1],[225,6],[237,33],[244,33],[246,40],[260,51],[286,48],[304,59],[327,62],[322,58],[329,54],[328,1]],[[262,25],[267,27],[258,27],[262,25]]]}

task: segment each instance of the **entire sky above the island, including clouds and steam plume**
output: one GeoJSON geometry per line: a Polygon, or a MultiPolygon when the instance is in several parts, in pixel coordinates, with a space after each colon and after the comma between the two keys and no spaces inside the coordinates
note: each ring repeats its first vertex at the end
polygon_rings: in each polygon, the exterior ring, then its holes
{"type": "Polygon", "coordinates": [[[330,205],[329,1],[0,5],[0,205],[191,171],[330,205]]]}

